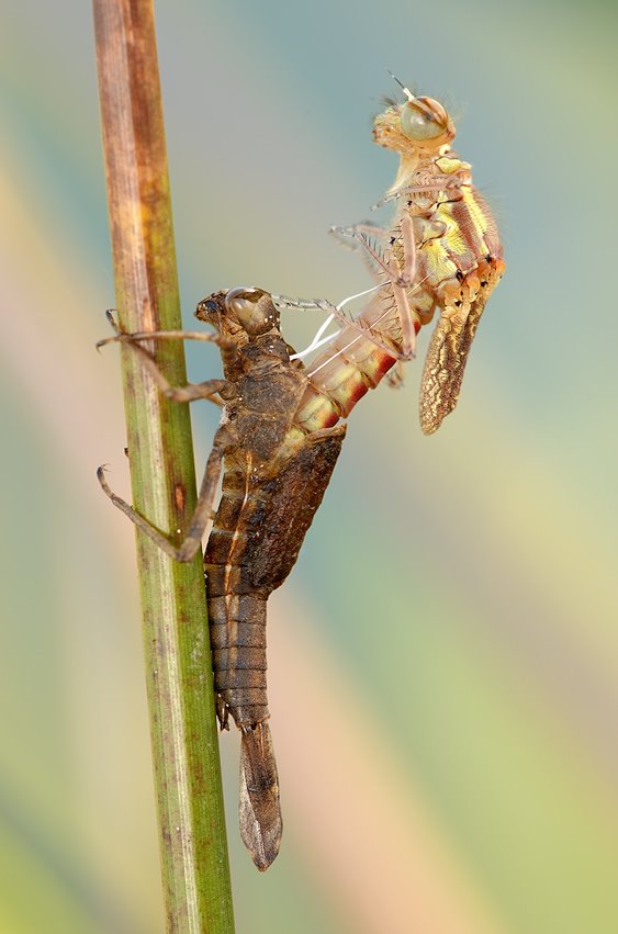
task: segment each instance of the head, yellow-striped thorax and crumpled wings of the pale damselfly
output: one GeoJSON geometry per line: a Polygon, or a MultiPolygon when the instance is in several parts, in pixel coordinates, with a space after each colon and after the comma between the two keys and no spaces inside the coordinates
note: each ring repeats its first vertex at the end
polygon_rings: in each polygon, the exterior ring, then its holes
{"type": "MultiPolygon", "coordinates": [[[[403,86],[402,86],[403,87],[403,86]]],[[[412,314],[431,337],[420,390],[420,421],[435,431],[454,408],[470,345],[485,303],[504,271],[499,235],[491,211],[472,184],[471,166],[450,148],[454,124],[431,98],[392,103],[375,117],[373,136],[400,155],[386,200],[396,201],[385,258],[403,268],[402,221],[414,229],[415,274],[406,290],[412,314]]]]}

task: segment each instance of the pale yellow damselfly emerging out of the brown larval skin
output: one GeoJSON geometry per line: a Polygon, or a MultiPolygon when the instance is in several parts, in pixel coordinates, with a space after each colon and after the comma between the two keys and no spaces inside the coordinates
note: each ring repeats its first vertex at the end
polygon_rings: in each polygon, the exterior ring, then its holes
{"type": "Polygon", "coordinates": [[[329,341],[314,339],[300,355],[329,342],[307,369],[313,392],[307,391],[299,421],[310,429],[347,416],[397,360],[413,357],[416,335],[439,311],[419,402],[423,431],[436,431],[457,404],[479,320],[504,272],[495,221],[472,184],[470,164],[451,149],[456,131],[449,114],[438,101],[401,87],[406,101],[390,101],[373,128],[380,146],[400,154],[384,199],[395,201],[393,224],[387,230],[366,224],[333,228],[366,251],[378,279],[375,295],[353,320],[324,302],[300,303],[325,307],[329,319],[342,323],[329,341]]]}

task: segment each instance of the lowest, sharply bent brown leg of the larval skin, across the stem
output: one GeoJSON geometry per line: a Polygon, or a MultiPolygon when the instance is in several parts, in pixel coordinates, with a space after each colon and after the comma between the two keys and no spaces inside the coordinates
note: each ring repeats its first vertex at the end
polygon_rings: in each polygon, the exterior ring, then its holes
{"type": "Polygon", "coordinates": [[[124,513],[124,515],[131,519],[131,521],[144,532],[144,534],[148,536],[148,538],[161,549],[161,551],[170,558],[176,559],[176,561],[191,561],[201,545],[204,529],[212,516],[212,507],[218,479],[221,476],[223,457],[228,449],[229,443],[227,440],[227,431],[225,426],[221,426],[215,434],[213,448],[206,461],[206,469],[202,479],[200,495],[198,497],[195,510],[189,524],[189,529],[178,547],[173,545],[169,539],[159,531],[159,529],[153,526],[153,524],[145,519],[144,516],[141,516],[139,513],[126,503],[125,499],[116,496],[105,480],[105,471],[103,466],[99,468],[97,476],[103,493],[109,496],[114,506],[120,509],[121,513],[124,513]]]}

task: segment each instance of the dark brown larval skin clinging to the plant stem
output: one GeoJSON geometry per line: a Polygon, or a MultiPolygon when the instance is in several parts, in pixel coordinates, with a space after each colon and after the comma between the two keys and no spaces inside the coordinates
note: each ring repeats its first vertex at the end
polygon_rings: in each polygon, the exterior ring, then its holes
{"type": "Polygon", "coordinates": [[[296,423],[307,383],[305,368],[279,330],[271,296],[258,289],[216,292],[196,316],[214,334],[117,333],[130,341],[168,398],[220,400],[224,405],[189,532],[179,548],[117,497],[99,469],[99,481],[128,518],[180,561],[198,551],[211,515],[222,463],[221,502],[209,537],[204,569],[213,650],[214,688],[222,729],[229,716],[240,731],[239,825],[259,869],[281,842],[279,779],[268,725],[266,604],[294,565],[341,450],[346,426],[308,430],[296,423]],[[199,337],[218,345],[224,380],[170,386],[138,341],[199,337]]]}

